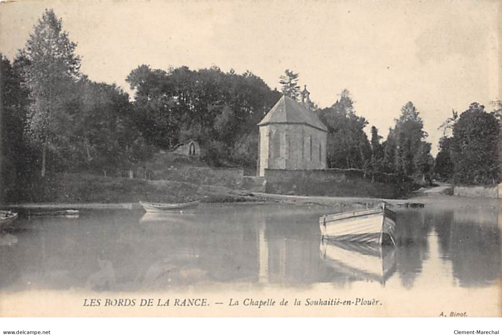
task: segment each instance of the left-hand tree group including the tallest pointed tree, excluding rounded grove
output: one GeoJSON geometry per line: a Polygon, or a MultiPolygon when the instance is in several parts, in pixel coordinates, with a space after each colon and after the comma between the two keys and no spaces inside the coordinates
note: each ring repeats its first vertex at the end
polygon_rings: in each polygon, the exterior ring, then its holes
{"type": "Polygon", "coordinates": [[[12,63],[0,55],[3,196],[36,171],[113,171],[149,152],[128,94],[82,75],[75,48],[46,10],[12,63]]]}

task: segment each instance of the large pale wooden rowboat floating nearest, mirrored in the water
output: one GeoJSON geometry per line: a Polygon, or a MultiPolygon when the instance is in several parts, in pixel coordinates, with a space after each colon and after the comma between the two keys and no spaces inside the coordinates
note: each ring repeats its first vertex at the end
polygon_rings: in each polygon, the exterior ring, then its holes
{"type": "Polygon", "coordinates": [[[396,246],[396,213],[386,203],[366,210],[324,215],[319,224],[322,237],[328,240],[396,246]]]}

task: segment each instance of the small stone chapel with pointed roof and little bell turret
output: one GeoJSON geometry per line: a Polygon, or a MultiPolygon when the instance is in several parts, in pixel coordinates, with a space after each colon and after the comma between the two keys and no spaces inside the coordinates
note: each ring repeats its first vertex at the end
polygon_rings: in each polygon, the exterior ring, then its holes
{"type": "Polygon", "coordinates": [[[297,102],[283,95],[258,123],[258,176],[265,169],[326,168],[327,128],[310,108],[307,87],[297,102]]]}

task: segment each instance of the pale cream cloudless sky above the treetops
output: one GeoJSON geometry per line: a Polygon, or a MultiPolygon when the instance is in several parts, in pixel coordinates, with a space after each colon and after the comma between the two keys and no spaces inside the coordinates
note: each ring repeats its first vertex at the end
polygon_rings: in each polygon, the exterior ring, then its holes
{"type": "Polygon", "coordinates": [[[357,114],[386,136],[412,101],[433,154],[441,123],[471,102],[500,98],[493,1],[28,1],[0,3],[0,52],[11,60],[46,8],[78,43],[81,72],[131,92],[141,64],[246,70],[280,89],[300,74],[319,107],[348,89],[357,114]]]}

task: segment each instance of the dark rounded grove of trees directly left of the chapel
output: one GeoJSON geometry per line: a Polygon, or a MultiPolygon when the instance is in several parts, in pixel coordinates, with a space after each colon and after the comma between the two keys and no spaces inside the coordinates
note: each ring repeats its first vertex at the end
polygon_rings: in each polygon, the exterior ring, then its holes
{"type": "Polygon", "coordinates": [[[136,91],[135,122],[149,144],[171,148],[195,139],[212,164],[256,164],[257,123],[280,97],[251,72],[216,66],[164,71],[141,65],[127,82],[136,91]]]}

